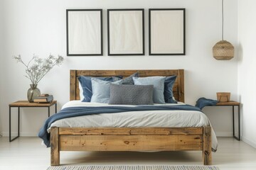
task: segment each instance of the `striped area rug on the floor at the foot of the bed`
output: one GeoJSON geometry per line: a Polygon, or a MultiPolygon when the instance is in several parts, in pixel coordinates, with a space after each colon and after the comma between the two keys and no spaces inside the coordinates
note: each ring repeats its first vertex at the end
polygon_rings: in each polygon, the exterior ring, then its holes
{"type": "Polygon", "coordinates": [[[219,170],[216,166],[50,166],[47,170],[219,170]]]}

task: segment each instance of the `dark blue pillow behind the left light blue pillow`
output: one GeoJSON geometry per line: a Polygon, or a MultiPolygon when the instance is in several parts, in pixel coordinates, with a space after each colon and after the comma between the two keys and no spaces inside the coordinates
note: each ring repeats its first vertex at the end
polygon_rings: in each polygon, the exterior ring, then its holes
{"type": "MultiPolygon", "coordinates": [[[[80,76],[78,77],[78,81],[80,82],[80,85],[82,87],[82,96],[83,99],[80,98],[80,100],[82,100],[82,102],[90,102],[91,98],[92,98],[92,79],[93,77],[84,77],[84,76],[80,76]]],[[[101,79],[104,81],[114,81],[113,77],[94,77],[96,79],[101,79]]],[[[115,80],[117,79],[122,79],[122,77],[114,77],[115,80]]],[[[81,91],[80,91],[81,92],[81,91]]]]}

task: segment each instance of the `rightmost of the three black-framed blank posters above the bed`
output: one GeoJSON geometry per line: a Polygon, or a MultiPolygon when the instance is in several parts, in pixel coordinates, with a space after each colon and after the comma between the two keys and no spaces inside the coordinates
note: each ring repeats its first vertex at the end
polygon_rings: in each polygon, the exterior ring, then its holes
{"type": "Polygon", "coordinates": [[[149,9],[149,55],[185,55],[185,8],[149,9]]]}

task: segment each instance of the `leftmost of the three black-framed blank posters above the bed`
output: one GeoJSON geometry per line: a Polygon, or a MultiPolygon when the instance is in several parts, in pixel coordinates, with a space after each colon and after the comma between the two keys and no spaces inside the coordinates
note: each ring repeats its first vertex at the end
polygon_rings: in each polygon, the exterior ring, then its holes
{"type": "Polygon", "coordinates": [[[102,9],[67,9],[67,55],[103,55],[102,9]]]}

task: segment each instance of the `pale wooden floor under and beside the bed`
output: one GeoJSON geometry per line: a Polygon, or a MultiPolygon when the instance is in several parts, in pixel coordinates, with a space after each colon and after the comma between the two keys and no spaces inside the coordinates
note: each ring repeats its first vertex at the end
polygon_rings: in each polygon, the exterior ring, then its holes
{"type": "MultiPolygon", "coordinates": [[[[201,152],[60,152],[63,165],[201,165],[201,152]]],[[[256,149],[232,137],[218,138],[213,165],[221,170],[256,169],[256,149]]],[[[0,169],[47,169],[50,149],[38,137],[19,137],[9,142],[0,137],[0,169]]]]}

